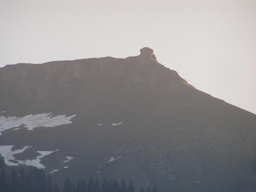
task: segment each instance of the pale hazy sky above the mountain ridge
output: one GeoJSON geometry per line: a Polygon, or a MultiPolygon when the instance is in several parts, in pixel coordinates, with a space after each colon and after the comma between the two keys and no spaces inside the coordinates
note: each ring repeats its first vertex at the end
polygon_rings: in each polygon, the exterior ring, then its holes
{"type": "Polygon", "coordinates": [[[140,54],[256,114],[255,0],[0,0],[0,67],[140,54]]]}

